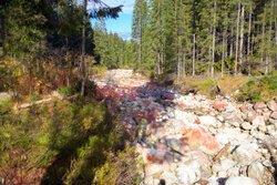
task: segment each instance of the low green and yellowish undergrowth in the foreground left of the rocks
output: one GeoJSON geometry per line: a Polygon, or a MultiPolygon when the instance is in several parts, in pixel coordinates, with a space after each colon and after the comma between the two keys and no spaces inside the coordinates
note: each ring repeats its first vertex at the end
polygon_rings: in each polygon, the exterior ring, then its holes
{"type": "Polygon", "coordinates": [[[6,101],[0,104],[0,177],[7,184],[119,184],[107,179],[124,174],[120,179],[133,184],[135,153],[124,150],[124,140],[116,117],[88,97],[22,111],[6,101]]]}

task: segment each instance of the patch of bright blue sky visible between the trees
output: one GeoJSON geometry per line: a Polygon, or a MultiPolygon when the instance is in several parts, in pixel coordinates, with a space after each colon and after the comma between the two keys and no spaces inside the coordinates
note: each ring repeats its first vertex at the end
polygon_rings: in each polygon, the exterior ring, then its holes
{"type": "MultiPolygon", "coordinates": [[[[123,6],[117,19],[105,19],[107,32],[117,33],[122,39],[130,40],[132,32],[133,7],[135,0],[102,0],[110,7],[123,6]]],[[[90,4],[89,4],[90,6],[90,4]]],[[[92,20],[94,27],[95,20],[92,20]]]]}

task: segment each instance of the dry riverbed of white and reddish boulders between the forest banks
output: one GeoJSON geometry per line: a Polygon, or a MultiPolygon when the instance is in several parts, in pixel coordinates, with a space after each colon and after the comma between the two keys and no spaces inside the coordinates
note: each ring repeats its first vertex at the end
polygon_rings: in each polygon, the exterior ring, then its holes
{"type": "Polygon", "coordinates": [[[143,158],[142,184],[276,184],[275,101],[181,95],[132,70],[91,80],[143,158]]]}

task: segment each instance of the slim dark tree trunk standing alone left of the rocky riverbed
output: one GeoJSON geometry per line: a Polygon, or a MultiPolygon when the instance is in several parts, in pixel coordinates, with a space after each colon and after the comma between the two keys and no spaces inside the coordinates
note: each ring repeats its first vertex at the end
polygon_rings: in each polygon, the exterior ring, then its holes
{"type": "Polygon", "coordinates": [[[85,62],[84,62],[84,55],[85,55],[85,23],[86,23],[86,4],[88,0],[84,0],[83,2],[83,28],[82,28],[82,56],[81,56],[81,71],[82,71],[82,89],[81,89],[81,96],[84,96],[84,89],[85,89],[85,62]]]}

